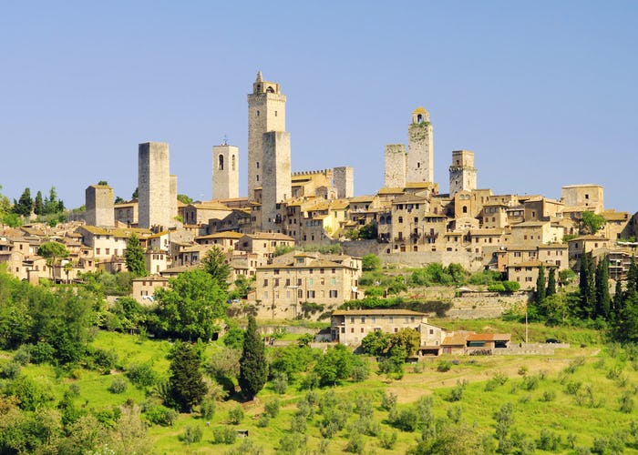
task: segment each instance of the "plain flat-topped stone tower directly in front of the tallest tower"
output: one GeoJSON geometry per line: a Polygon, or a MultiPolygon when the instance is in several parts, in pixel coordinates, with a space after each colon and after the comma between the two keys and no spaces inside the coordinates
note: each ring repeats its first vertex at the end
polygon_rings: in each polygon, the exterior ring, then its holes
{"type": "Polygon", "coordinates": [[[263,134],[262,231],[281,232],[277,204],[292,192],[290,133],[271,131],[263,134]]]}

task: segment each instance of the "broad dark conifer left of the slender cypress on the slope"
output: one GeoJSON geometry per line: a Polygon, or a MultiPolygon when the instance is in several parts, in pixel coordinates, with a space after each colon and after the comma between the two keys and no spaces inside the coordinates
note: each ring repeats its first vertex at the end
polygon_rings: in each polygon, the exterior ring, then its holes
{"type": "Polygon", "coordinates": [[[201,375],[200,354],[188,343],[175,343],[171,352],[170,405],[182,412],[192,412],[208,391],[201,375]]]}

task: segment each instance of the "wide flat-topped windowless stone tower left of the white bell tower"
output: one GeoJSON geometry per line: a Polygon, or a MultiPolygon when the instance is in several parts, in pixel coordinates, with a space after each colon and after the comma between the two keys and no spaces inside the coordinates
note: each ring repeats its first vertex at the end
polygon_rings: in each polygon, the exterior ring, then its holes
{"type": "MultiPolygon", "coordinates": [[[[174,191],[177,193],[177,179],[174,191]]],[[[139,227],[168,228],[171,225],[171,185],[169,145],[163,142],[139,144],[138,152],[139,227]]],[[[175,195],[177,197],[177,195],[175,195]]]]}

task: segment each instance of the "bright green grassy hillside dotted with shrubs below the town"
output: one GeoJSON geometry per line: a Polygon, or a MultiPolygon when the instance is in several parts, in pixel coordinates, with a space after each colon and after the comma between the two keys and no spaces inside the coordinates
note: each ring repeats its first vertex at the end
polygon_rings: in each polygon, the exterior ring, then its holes
{"type": "MultiPolygon", "coordinates": [[[[509,332],[512,333],[512,342],[518,342],[520,333],[523,336],[525,333],[521,324],[500,320],[432,322],[448,329],[490,328],[509,332]]],[[[248,444],[253,449],[261,448],[262,453],[275,453],[287,445],[294,445],[291,440],[293,425],[298,430],[305,427],[303,446],[309,453],[339,453],[346,449],[360,450],[361,453],[404,453],[416,446],[421,430],[393,428],[389,421],[390,412],[381,407],[383,394],[393,393],[397,396],[396,412],[413,409],[418,399],[431,397],[431,411],[439,434],[455,434],[457,431],[457,434],[469,435],[475,440],[485,438],[488,447],[490,443],[493,448],[498,445],[494,438],[495,412],[503,404],[511,403],[513,423],[509,426],[509,437],[525,441],[522,446],[535,450],[531,452],[571,453],[573,445],[575,449],[592,450],[595,446],[604,449],[601,453],[613,453],[614,441],[619,439],[623,440],[625,452],[634,450],[632,422],[636,418],[633,401],[638,391],[638,360],[633,359],[633,354],[617,346],[604,346],[600,334],[592,329],[547,328],[530,324],[528,333],[530,341],[558,338],[572,345],[570,349],[557,349],[553,356],[444,356],[427,359],[406,365],[406,374],[399,380],[377,375],[376,362],[370,360],[373,372],[365,381],[345,381],[334,388],[315,389],[310,393],[299,390],[303,378],[300,374],[285,394],[276,394],[272,384],[268,383],[254,401],[239,403],[228,399],[217,402],[211,420],[202,420],[199,413],[194,412],[191,415],[180,414],[172,426],[150,425],[148,438],[157,453],[226,453],[231,450],[246,453],[250,452],[248,444]],[[437,370],[441,360],[453,361],[448,371],[437,370]],[[500,378],[498,383],[493,379],[495,376],[500,378]],[[489,390],[486,390],[486,385],[489,390]],[[456,396],[453,396],[455,393],[456,396]],[[339,409],[346,419],[341,430],[336,430],[330,439],[324,438],[320,430],[330,408],[326,405],[326,411],[322,412],[318,404],[326,399],[327,394],[334,394],[334,401],[342,406],[343,409],[339,409]],[[280,401],[280,412],[267,426],[263,426],[260,416],[264,412],[264,404],[273,399],[280,401]],[[305,404],[300,405],[300,402],[305,404]],[[229,423],[229,411],[238,406],[242,407],[244,418],[239,424],[232,425],[229,423]],[[367,416],[365,421],[371,427],[363,430],[368,434],[364,434],[358,440],[359,445],[354,444],[353,447],[352,435],[364,428],[361,426],[364,420],[359,414],[367,416]],[[187,426],[201,428],[200,442],[186,444],[180,440],[187,426]],[[248,440],[239,438],[232,444],[214,444],[214,431],[220,428],[247,430],[248,440]],[[396,443],[392,449],[384,449],[380,435],[392,433],[396,433],[396,443]],[[551,450],[541,450],[542,447],[551,447],[551,450]]],[[[218,343],[221,345],[218,341],[207,347],[207,358],[219,349],[218,343]]],[[[153,399],[152,387],[139,389],[129,383],[125,372],[131,365],[149,364],[160,380],[169,376],[169,341],[100,331],[91,344],[95,348],[117,352],[116,369],[108,374],[81,368],[60,372],[46,365],[29,364],[22,373],[36,379],[50,391],[50,406],[55,407],[65,390],[74,385],[73,389],[78,392],[74,396],[77,407],[93,412],[112,409],[128,400],[144,404],[153,399]],[[123,393],[108,391],[116,378],[125,379],[128,383],[123,393]]],[[[0,352],[0,366],[12,357],[13,352],[0,352]]]]}

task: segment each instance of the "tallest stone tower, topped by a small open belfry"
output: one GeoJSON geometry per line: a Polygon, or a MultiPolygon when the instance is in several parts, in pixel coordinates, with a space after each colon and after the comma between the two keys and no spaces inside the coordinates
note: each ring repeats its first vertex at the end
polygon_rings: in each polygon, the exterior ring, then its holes
{"type": "Polygon", "coordinates": [[[264,81],[260,71],[248,96],[249,200],[254,200],[255,188],[262,187],[263,183],[263,134],[285,129],[286,96],[282,95],[279,84],[264,81]]]}

